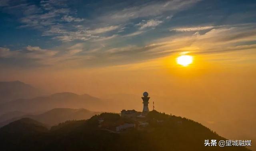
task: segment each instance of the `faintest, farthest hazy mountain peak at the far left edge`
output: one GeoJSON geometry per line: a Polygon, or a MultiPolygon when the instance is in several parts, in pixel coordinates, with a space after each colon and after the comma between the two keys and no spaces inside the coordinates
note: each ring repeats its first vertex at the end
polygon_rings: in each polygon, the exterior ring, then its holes
{"type": "Polygon", "coordinates": [[[0,104],[18,98],[34,98],[42,94],[42,90],[20,81],[0,82],[0,104]]]}

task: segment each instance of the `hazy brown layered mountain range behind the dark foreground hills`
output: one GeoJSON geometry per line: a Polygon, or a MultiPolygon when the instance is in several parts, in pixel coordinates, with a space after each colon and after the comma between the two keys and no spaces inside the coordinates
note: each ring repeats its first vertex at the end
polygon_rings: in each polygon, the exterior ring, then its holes
{"type": "Polygon", "coordinates": [[[62,92],[44,95],[20,81],[0,82],[0,127],[21,118],[38,120],[50,127],[67,120],[88,119],[109,108],[107,100],[88,94],[62,92]]]}

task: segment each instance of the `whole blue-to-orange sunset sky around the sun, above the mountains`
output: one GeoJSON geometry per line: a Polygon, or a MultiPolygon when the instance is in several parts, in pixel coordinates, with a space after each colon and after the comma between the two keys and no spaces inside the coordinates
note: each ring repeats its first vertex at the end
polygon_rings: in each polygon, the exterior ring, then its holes
{"type": "Polygon", "coordinates": [[[255,77],[255,0],[0,0],[1,81],[138,101],[148,91],[157,110],[256,140],[255,77]]]}

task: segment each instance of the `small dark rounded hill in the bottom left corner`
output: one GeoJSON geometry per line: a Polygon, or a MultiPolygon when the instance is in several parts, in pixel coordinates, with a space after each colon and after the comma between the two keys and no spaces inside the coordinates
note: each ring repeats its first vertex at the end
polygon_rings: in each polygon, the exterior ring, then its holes
{"type": "Polygon", "coordinates": [[[39,143],[36,141],[48,131],[44,124],[30,118],[14,121],[0,128],[0,150],[22,151],[22,148],[26,148],[30,151],[38,151],[39,143]],[[23,145],[28,146],[24,147],[23,145]]]}

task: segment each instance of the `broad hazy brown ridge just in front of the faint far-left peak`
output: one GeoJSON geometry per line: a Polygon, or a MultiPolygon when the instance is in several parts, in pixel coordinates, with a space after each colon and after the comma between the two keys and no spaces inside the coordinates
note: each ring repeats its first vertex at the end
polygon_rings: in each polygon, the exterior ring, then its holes
{"type": "Polygon", "coordinates": [[[86,108],[106,111],[108,102],[88,94],[78,95],[70,92],[56,93],[31,99],[18,99],[0,105],[0,114],[11,111],[39,112],[53,108],[86,108]]]}

